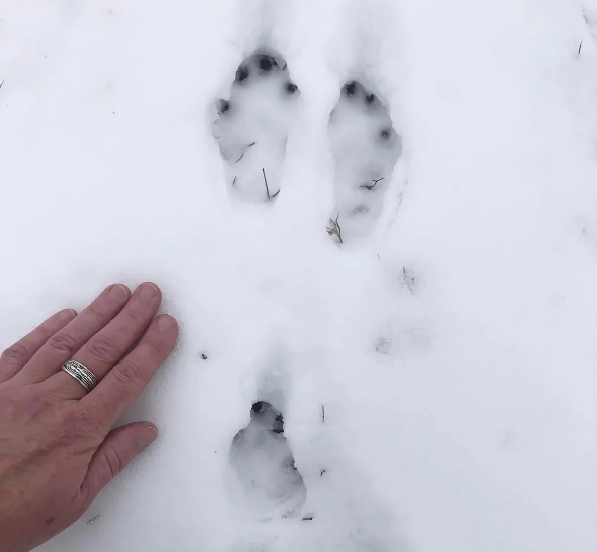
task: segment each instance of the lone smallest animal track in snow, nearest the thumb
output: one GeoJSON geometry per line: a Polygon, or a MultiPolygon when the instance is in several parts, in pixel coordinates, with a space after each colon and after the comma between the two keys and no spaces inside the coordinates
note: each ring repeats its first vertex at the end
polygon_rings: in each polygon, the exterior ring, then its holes
{"type": "Polygon", "coordinates": [[[251,420],[230,446],[230,463],[259,520],[291,517],[306,499],[303,477],[284,437],[284,416],[270,403],[251,406],[251,420]]]}

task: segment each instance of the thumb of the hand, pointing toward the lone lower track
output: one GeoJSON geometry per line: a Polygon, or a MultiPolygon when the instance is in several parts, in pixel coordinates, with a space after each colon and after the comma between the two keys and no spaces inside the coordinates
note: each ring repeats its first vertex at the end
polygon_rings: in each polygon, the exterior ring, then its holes
{"type": "Polygon", "coordinates": [[[82,494],[91,502],[126,465],[158,436],[158,428],[150,422],[121,425],[107,434],[91,458],[81,485],[82,494]]]}

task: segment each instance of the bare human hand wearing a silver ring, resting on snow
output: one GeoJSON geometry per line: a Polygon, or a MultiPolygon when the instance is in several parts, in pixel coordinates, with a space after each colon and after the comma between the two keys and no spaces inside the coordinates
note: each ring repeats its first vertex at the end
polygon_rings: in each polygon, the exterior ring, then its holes
{"type": "Polygon", "coordinates": [[[0,552],[29,552],[66,529],[156,438],[149,422],[110,428],[176,343],[176,320],[153,320],[161,300],[152,283],[132,297],[114,284],[0,356],[0,552]],[[61,370],[70,359],[99,380],[90,393],[61,370]]]}

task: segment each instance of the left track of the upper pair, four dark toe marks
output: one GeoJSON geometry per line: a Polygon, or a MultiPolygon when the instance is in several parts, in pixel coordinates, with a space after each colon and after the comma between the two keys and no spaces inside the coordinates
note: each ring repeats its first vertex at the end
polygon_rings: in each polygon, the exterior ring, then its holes
{"type": "Polygon", "coordinates": [[[257,202],[276,198],[298,95],[281,56],[260,50],[242,61],[213,125],[230,192],[257,202]]]}

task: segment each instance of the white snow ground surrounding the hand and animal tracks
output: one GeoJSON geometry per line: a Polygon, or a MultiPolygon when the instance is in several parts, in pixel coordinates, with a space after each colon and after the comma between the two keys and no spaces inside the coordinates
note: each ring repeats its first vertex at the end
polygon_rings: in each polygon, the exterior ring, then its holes
{"type": "Polygon", "coordinates": [[[4,2],[0,346],[114,281],[181,323],[124,420],[158,442],[42,550],[594,551],[596,7],[4,2]],[[212,136],[260,48],[300,91],[247,169],[279,163],[274,201],[231,193],[212,136]],[[353,80],[402,152],[339,244],[353,80]],[[268,521],[235,469],[264,451],[230,455],[259,400],[306,490],[268,521]]]}

